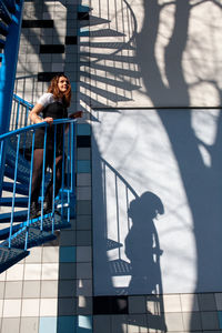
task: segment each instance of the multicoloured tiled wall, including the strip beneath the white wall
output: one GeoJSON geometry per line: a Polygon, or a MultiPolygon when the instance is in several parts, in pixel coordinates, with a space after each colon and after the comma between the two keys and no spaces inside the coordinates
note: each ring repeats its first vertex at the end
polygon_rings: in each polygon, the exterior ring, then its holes
{"type": "MultiPolygon", "coordinates": [[[[16,92],[31,103],[46,91],[51,72],[64,70],[74,90],[71,108],[88,110],[78,62],[78,19],[85,20],[85,13],[78,13],[78,0],[24,2],[16,92]]],[[[0,275],[0,332],[221,332],[221,293],[93,296],[87,113],[77,131],[77,216],[69,230],[58,232],[56,242],[32,249],[30,256],[0,275]]]]}

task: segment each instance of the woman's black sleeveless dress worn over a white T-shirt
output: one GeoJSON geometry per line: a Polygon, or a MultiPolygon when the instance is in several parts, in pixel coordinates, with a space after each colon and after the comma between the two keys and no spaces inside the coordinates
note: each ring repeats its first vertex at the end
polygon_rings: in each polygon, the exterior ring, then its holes
{"type": "MultiPolygon", "coordinates": [[[[53,101],[42,110],[43,118],[51,117],[53,119],[68,118],[67,108],[60,101],[53,101]]],[[[44,143],[44,128],[36,131],[34,149],[42,149],[44,143]]],[[[54,148],[54,125],[47,128],[47,150],[54,148]]],[[[63,124],[57,125],[57,145],[56,155],[61,155],[63,150],[63,124]]]]}

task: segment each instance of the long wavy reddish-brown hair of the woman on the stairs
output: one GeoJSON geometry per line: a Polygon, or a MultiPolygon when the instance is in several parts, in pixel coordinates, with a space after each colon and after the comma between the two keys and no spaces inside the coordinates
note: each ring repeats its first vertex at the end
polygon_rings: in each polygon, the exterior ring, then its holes
{"type": "Polygon", "coordinates": [[[64,74],[58,74],[54,78],[52,78],[50,85],[48,88],[48,92],[51,92],[54,97],[56,100],[61,99],[62,103],[69,108],[70,107],[70,101],[71,101],[71,84],[70,84],[70,80],[67,75],[64,74]],[[59,79],[60,78],[65,78],[68,80],[68,89],[64,93],[62,93],[59,90],[58,83],[59,83],[59,79]]]}

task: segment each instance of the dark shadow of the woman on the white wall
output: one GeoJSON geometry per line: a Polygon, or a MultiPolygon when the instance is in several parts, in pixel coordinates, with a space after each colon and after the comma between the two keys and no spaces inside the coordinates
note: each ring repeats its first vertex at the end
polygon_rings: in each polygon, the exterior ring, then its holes
{"type": "Polygon", "coordinates": [[[152,192],[144,192],[130,203],[132,226],[125,238],[125,255],[131,263],[129,294],[162,293],[160,250],[153,220],[164,213],[162,201],[152,192]]]}

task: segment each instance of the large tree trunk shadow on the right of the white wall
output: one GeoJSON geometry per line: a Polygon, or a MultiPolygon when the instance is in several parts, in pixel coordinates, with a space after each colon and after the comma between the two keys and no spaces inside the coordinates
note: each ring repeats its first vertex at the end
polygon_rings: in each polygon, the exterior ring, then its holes
{"type": "MultiPolygon", "coordinates": [[[[176,123],[173,122],[173,111],[157,109],[162,124],[168,133],[180,175],[185,189],[189,206],[193,220],[193,234],[196,246],[196,283],[193,292],[216,292],[222,276],[220,234],[222,232],[221,216],[221,112],[215,122],[215,139],[208,145],[200,140],[193,128],[192,102],[182,59],[188,44],[191,10],[194,6],[203,6],[206,1],[191,4],[190,1],[173,1],[174,23],[168,44],[164,48],[164,71],[168,84],[162,79],[161,70],[155,56],[155,43],[160,28],[160,16],[163,4],[157,1],[143,1],[144,21],[137,40],[137,59],[141,68],[147,94],[155,108],[162,107],[161,100],[171,107],[178,107],[176,123]],[[144,42],[145,41],[145,42],[144,42]],[[189,108],[183,110],[182,108],[189,108]],[[210,159],[206,165],[201,150],[204,149],[210,159]]],[[[213,2],[221,8],[218,2],[213,2]]],[[[168,4],[167,4],[168,6],[168,4]]],[[[213,6],[213,4],[212,4],[213,6]]],[[[213,31],[212,31],[213,36],[213,31]]],[[[216,54],[216,49],[214,50],[216,54]]],[[[216,56],[215,56],[216,65],[216,56]]],[[[201,84],[201,79],[196,78],[201,84]]],[[[196,84],[198,84],[196,83],[196,84]]],[[[221,105],[221,90],[216,80],[209,80],[218,91],[219,107],[221,105]]],[[[193,108],[194,109],[194,108],[193,108]]],[[[204,107],[202,108],[204,109],[204,107]]],[[[204,115],[203,115],[204,117],[204,115]]],[[[191,309],[192,311],[192,309],[191,309]]],[[[191,316],[192,331],[194,317],[191,316]]]]}

